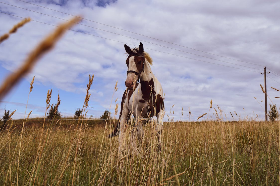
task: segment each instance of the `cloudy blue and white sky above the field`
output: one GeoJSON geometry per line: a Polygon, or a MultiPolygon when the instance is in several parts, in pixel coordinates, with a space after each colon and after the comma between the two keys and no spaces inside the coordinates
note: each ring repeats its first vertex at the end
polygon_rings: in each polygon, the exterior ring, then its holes
{"type": "Polygon", "coordinates": [[[269,103],[280,106],[280,92],[271,88],[280,88],[279,9],[276,0],[0,0],[0,35],[22,18],[32,20],[0,44],[1,82],[55,25],[71,15],[84,18],[0,100],[0,113],[6,107],[17,109],[13,119],[24,118],[25,109],[32,110],[30,117],[43,117],[52,89],[51,103],[59,93],[62,116],[73,116],[92,74],[87,116],[114,113],[126,88],[124,44],[134,48],[142,42],[165,93],[165,121],[195,121],[204,113],[202,119],[216,120],[214,108],[223,120],[264,120],[265,66],[268,110],[269,103]]]}

